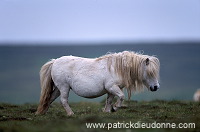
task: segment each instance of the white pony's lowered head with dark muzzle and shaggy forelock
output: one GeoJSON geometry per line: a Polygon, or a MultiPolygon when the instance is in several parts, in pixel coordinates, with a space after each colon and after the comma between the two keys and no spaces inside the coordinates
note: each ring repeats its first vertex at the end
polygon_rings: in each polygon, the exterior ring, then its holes
{"type": "Polygon", "coordinates": [[[146,58],[143,64],[143,84],[151,91],[157,91],[159,85],[159,60],[156,57],[146,58]]]}

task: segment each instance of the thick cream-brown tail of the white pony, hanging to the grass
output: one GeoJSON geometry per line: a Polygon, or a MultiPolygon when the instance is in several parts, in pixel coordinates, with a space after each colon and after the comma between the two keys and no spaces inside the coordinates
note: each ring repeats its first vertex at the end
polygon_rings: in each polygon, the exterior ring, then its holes
{"type": "Polygon", "coordinates": [[[54,85],[51,77],[51,68],[54,61],[55,59],[52,59],[51,61],[47,62],[40,70],[41,95],[36,114],[45,114],[49,108],[54,85]]]}

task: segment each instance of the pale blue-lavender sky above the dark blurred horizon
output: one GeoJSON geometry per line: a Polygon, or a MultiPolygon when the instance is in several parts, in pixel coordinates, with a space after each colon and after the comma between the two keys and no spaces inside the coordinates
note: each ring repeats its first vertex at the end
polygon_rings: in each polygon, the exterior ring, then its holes
{"type": "Polygon", "coordinates": [[[200,40],[200,0],[0,0],[0,42],[200,40]]]}

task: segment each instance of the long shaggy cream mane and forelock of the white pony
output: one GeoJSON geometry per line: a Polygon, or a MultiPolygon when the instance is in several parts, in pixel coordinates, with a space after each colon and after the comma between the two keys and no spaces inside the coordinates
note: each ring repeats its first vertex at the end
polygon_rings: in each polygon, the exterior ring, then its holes
{"type": "Polygon", "coordinates": [[[123,51],[119,53],[109,53],[98,60],[106,59],[107,66],[111,72],[111,67],[121,78],[122,84],[127,89],[128,98],[130,99],[132,91],[140,92],[144,89],[143,75],[146,65],[148,77],[159,80],[160,63],[155,56],[143,55],[132,51],[123,51]],[[146,64],[149,59],[148,65],[146,64]]]}

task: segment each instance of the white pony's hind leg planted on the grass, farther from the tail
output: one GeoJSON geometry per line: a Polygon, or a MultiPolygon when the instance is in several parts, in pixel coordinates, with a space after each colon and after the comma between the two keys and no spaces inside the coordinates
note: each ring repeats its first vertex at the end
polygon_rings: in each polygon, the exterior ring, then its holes
{"type": "Polygon", "coordinates": [[[73,115],[74,112],[71,110],[68,104],[70,87],[69,86],[61,87],[59,90],[60,90],[60,100],[63,107],[65,108],[65,111],[67,112],[67,115],[69,116],[73,115]]]}

